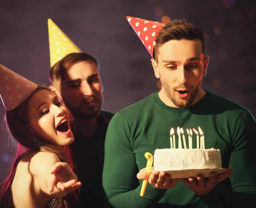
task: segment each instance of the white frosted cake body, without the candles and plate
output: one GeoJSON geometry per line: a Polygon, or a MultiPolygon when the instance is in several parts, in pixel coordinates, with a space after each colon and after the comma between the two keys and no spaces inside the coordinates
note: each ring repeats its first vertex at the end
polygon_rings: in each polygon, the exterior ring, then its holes
{"type": "Polygon", "coordinates": [[[154,168],[159,171],[221,168],[220,150],[156,149],[154,168]]]}

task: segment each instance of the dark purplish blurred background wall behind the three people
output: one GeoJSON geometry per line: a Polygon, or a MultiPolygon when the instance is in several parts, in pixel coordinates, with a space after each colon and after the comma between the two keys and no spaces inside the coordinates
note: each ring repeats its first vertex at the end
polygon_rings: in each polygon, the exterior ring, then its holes
{"type": "MultiPolygon", "coordinates": [[[[47,84],[47,19],[100,62],[104,106],[119,111],[158,90],[151,56],[126,16],[185,19],[205,32],[210,62],[202,87],[256,116],[255,0],[0,0],[0,64],[47,84]]],[[[0,104],[0,118],[4,117],[0,104]]],[[[2,120],[0,122],[2,125],[2,120]]],[[[0,182],[15,153],[0,129],[0,182]]]]}

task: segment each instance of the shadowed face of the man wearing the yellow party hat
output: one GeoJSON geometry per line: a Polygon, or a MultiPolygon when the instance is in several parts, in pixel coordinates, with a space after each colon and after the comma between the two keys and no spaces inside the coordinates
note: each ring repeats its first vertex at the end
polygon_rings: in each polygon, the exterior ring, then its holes
{"type": "Polygon", "coordinates": [[[77,118],[96,118],[102,107],[102,82],[96,64],[82,61],[67,70],[60,86],[61,97],[77,118]]]}

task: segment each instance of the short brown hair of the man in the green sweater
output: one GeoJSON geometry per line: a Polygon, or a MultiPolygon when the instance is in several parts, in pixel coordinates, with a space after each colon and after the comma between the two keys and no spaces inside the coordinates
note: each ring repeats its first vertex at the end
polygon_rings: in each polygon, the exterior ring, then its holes
{"type": "Polygon", "coordinates": [[[185,20],[172,20],[163,26],[163,29],[158,33],[156,37],[156,43],[154,46],[153,57],[157,61],[159,55],[159,48],[167,43],[169,40],[195,40],[199,39],[202,43],[202,52],[205,55],[205,43],[203,32],[192,26],[191,23],[185,20]]]}

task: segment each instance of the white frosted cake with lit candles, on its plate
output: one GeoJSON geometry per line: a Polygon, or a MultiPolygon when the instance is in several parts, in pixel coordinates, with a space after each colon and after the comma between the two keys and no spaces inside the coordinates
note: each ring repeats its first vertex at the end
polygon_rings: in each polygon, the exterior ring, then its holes
{"type": "Polygon", "coordinates": [[[188,148],[186,146],[186,138],[183,129],[178,127],[178,148],[176,148],[176,138],[174,129],[170,131],[171,148],[156,149],[154,152],[154,170],[165,171],[172,175],[172,178],[188,178],[201,174],[204,177],[209,177],[209,173],[215,171],[217,174],[225,169],[221,168],[221,153],[218,149],[204,148],[204,133],[198,127],[196,133],[196,148],[192,148],[192,130],[187,129],[188,133],[188,148]],[[182,138],[182,139],[181,139],[182,138]],[[183,141],[183,145],[182,145],[183,141]],[[184,147],[184,148],[182,148],[184,147]]]}

